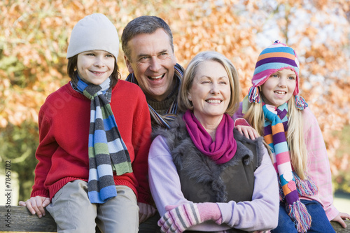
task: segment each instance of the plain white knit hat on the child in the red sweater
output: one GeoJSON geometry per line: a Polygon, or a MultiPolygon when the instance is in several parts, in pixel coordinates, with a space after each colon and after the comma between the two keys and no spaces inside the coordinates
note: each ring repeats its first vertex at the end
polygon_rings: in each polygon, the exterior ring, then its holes
{"type": "Polygon", "coordinates": [[[73,27],[66,58],[88,50],[104,50],[118,58],[118,32],[106,15],[87,15],[73,27]]]}

